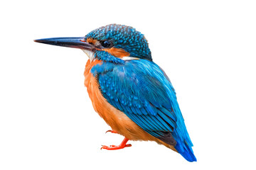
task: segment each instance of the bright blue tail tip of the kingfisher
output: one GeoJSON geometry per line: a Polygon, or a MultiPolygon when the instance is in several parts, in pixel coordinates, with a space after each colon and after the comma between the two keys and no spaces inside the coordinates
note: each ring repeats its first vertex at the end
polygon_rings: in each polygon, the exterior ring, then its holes
{"type": "Polygon", "coordinates": [[[196,157],[193,154],[191,146],[188,146],[186,142],[177,141],[175,149],[182,155],[188,162],[196,162],[196,157]]]}

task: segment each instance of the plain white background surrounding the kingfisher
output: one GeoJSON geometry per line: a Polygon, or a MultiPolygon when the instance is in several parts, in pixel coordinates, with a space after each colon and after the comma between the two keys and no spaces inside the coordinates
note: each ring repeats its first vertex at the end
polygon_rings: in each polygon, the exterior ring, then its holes
{"type": "Polygon", "coordinates": [[[255,169],[255,1],[2,1],[0,169],[255,169]],[[118,145],[83,85],[87,56],[34,39],[121,23],[169,75],[198,162],[118,145]]]}

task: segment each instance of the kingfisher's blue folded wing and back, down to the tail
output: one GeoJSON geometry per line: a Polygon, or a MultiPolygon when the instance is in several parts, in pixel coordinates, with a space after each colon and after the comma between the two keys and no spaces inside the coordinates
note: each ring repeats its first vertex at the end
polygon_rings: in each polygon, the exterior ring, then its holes
{"type": "Polygon", "coordinates": [[[169,78],[154,62],[130,60],[92,68],[102,95],[150,135],[174,145],[186,159],[196,159],[169,78]]]}

